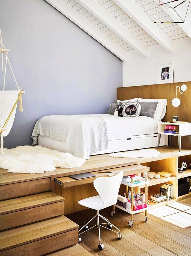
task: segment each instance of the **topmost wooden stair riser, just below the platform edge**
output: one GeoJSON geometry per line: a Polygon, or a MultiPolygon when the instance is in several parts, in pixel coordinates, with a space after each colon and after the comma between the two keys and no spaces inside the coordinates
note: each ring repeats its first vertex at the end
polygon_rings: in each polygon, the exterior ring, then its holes
{"type": "MultiPolygon", "coordinates": [[[[17,176],[17,174],[13,174],[17,176]]],[[[19,175],[19,174],[18,174],[19,175]]],[[[51,190],[51,178],[6,184],[0,186],[0,200],[27,196],[51,190]]]]}

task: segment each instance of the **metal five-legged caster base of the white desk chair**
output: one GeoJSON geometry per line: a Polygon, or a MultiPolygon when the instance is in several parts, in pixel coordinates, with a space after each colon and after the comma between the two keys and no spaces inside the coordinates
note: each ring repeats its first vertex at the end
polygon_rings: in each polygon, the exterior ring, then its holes
{"type": "MultiPolygon", "coordinates": [[[[100,250],[103,250],[103,248],[104,248],[104,245],[101,243],[100,227],[106,228],[106,229],[108,229],[108,230],[110,230],[110,231],[112,231],[112,232],[118,234],[118,235],[117,235],[117,238],[118,238],[118,239],[121,239],[121,238],[122,238],[120,230],[119,230],[116,226],[114,226],[111,222],[109,222],[108,219],[106,219],[105,217],[103,217],[103,216],[99,213],[99,210],[97,210],[96,215],[94,215],[94,216],[90,217],[89,219],[85,220],[83,224],[84,224],[83,227],[80,228],[79,231],[78,231],[78,235],[81,235],[81,234],[83,234],[84,232],[86,232],[86,231],[88,231],[88,230],[90,230],[90,229],[96,227],[96,228],[98,229],[98,235],[99,235],[99,245],[98,245],[98,248],[99,248],[100,250]],[[88,224],[89,224],[90,222],[92,222],[95,218],[96,218],[96,225],[94,225],[94,226],[92,226],[91,228],[89,228],[89,227],[88,227],[88,224]],[[100,219],[100,218],[101,218],[103,221],[106,221],[106,222],[104,222],[104,223],[99,223],[99,219],[100,219]],[[107,224],[107,227],[102,226],[102,225],[104,225],[104,224],[107,224]],[[115,231],[115,230],[112,230],[112,227],[114,227],[115,229],[117,229],[118,232],[115,231]],[[84,231],[83,231],[83,232],[80,232],[82,229],[83,229],[84,231]]],[[[80,238],[80,237],[79,237],[78,241],[81,242],[81,238],[80,238]]]]}

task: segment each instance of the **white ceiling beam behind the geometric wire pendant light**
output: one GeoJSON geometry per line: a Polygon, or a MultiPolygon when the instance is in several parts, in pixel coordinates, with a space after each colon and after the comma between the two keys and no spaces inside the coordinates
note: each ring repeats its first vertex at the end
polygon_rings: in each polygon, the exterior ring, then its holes
{"type": "MultiPolygon", "coordinates": [[[[158,0],[155,0],[155,2],[158,4],[158,0]]],[[[178,16],[177,14],[174,12],[173,9],[171,8],[168,8],[168,7],[164,7],[163,5],[160,6],[165,12],[166,14],[168,14],[172,20],[174,21],[177,21],[178,19],[178,16]]],[[[188,35],[191,37],[191,13],[190,13],[190,9],[191,9],[191,4],[189,6],[189,10],[188,10],[188,13],[187,13],[187,16],[186,16],[186,19],[185,19],[185,22],[184,23],[177,23],[177,25],[182,28],[182,30],[188,35]]],[[[177,10],[177,13],[183,17],[185,17],[185,14],[186,14],[186,9],[185,7],[182,5],[178,6],[178,10],[177,10]]]]}

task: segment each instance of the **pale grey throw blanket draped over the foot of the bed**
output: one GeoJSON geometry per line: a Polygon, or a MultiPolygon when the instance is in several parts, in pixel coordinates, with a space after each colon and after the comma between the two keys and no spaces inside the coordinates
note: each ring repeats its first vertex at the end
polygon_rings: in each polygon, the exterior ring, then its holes
{"type": "Polygon", "coordinates": [[[38,135],[65,141],[73,155],[89,159],[90,154],[108,149],[106,121],[94,115],[53,115],[39,119],[32,133],[33,146],[38,135]]]}

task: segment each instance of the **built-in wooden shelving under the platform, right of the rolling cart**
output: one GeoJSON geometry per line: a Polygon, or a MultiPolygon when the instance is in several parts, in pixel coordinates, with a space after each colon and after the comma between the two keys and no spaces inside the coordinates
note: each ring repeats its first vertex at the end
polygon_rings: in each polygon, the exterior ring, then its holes
{"type": "MultiPolygon", "coordinates": [[[[180,199],[191,196],[191,192],[182,196],[178,196],[178,180],[180,178],[185,178],[191,176],[191,169],[188,169],[182,173],[178,172],[178,167],[182,165],[182,162],[187,163],[187,168],[191,165],[191,150],[181,150],[178,152],[178,149],[175,150],[171,147],[166,147],[165,150],[166,157],[160,158],[158,156],[157,160],[154,159],[145,159],[145,163],[140,161],[139,164],[142,166],[149,167],[150,171],[159,172],[159,171],[167,171],[173,174],[173,176],[167,178],[160,176],[160,179],[151,179],[150,183],[148,183],[148,199],[150,200],[151,195],[160,193],[159,187],[165,183],[173,184],[173,196],[174,198],[166,201],[162,201],[159,203],[155,203],[150,201],[149,209],[157,208],[163,205],[171,204],[172,202],[178,201],[180,199]],[[169,154],[170,153],[170,154],[169,154]]],[[[163,155],[164,156],[164,155],[163,155]]],[[[141,169],[140,171],[141,172],[141,169]]],[[[138,172],[137,172],[138,175],[138,172]]],[[[140,175],[140,174],[139,174],[140,175]]],[[[122,186],[122,185],[121,185],[122,186]]],[[[136,193],[140,193],[140,191],[145,191],[145,184],[140,184],[139,189],[134,189],[136,193]]],[[[120,195],[123,195],[123,192],[126,191],[125,187],[120,188],[120,195]]]]}

